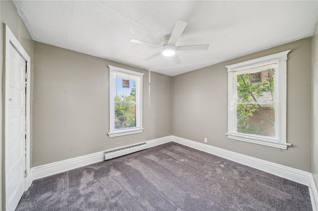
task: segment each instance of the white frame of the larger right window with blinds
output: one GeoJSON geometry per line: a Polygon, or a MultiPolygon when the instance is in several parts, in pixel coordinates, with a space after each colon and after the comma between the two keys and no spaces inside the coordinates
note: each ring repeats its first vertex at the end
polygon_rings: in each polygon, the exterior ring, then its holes
{"type": "MultiPolygon", "coordinates": [[[[287,146],[291,146],[287,143],[286,138],[286,115],[287,115],[287,54],[290,52],[285,51],[281,53],[275,53],[260,58],[243,61],[237,64],[232,64],[226,66],[228,68],[228,133],[226,135],[229,139],[260,144],[275,148],[280,148],[287,150],[287,146]],[[237,132],[237,125],[235,123],[237,111],[234,106],[234,100],[236,100],[236,90],[235,90],[235,72],[242,71],[247,68],[257,68],[262,65],[271,64],[277,62],[277,71],[275,72],[275,77],[280,80],[280,91],[276,92],[278,96],[277,102],[277,115],[275,117],[275,122],[278,124],[278,131],[275,138],[267,138],[264,136],[242,134],[237,132]]],[[[253,71],[253,70],[251,70],[253,71]]],[[[275,78],[275,89],[277,87],[275,78]]]]}

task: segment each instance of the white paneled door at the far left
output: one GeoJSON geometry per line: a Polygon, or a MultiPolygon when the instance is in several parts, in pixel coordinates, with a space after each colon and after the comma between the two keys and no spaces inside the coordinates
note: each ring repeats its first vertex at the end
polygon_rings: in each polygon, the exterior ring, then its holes
{"type": "Polygon", "coordinates": [[[5,198],[14,211],[25,190],[26,61],[10,44],[6,60],[5,93],[5,198]]]}

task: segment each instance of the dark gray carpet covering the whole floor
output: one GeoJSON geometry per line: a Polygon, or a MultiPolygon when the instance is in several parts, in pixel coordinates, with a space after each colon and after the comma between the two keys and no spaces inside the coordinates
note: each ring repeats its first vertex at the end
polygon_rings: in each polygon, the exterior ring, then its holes
{"type": "Polygon", "coordinates": [[[312,211],[307,186],[176,143],[33,181],[17,211],[312,211]]]}

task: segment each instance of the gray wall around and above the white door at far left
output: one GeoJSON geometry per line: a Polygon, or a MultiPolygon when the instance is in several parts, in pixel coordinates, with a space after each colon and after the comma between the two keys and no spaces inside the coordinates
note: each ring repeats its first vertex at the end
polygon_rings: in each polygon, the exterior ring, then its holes
{"type": "MultiPolygon", "coordinates": [[[[4,71],[4,64],[2,63],[2,55],[4,55],[3,53],[3,23],[5,23],[6,25],[8,25],[8,27],[10,28],[10,30],[12,31],[12,33],[14,34],[14,36],[17,38],[17,40],[19,41],[19,43],[22,45],[22,47],[24,48],[24,50],[29,54],[30,58],[31,58],[31,81],[32,81],[32,59],[33,59],[33,40],[32,37],[30,36],[28,30],[26,29],[22,19],[20,18],[15,5],[13,4],[13,1],[11,0],[0,0],[0,87],[2,87],[2,74],[4,71]]],[[[3,90],[4,92],[4,90],[3,90]]],[[[31,101],[32,101],[32,82],[31,82],[31,101]]],[[[0,117],[2,118],[2,92],[0,92],[0,117]]],[[[32,110],[32,102],[31,102],[31,107],[30,109],[32,110]]],[[[32,116],[31,116],[31,127],[32,127],[32,116]]],[[[3,122],[0,121],[0,143],[2,143],[0,145],[0,169],[2,169],[2,164],[4,161],[4,159],[2,159],[2,157],[4,156],[4,152],[2,152],[2,150],[4,149],[4,142],[3,142],[3,132],[4,132],[4,128],[3,128],[3,122]]],[[[30,134],[31,136],[31,152],[32,152],[32,132],[30,134]]],[[[32,155],[32,154],[31,154],[32,155]]],[[[4,173],[3,169],[2,169],[2,173],[4,173]]],[[[4,178],[4,177],[3,177],[4,178]]],[[[0,174],[0,181],[2,181],[1,178],[1,174],[0,174]]],[[[2,189],[2,187],[4,188],[4,186],[2,186],[2,184],[0,183],[1,187],[0,189],[2,189]]],[[[4,191],[4,190],[3,190],[4,191]]],[[[4,196],[4,195],[3,195],[4,196]]],[[[5,203],[3,201],[2,195],[0,194],[0,210],[2,208],[2,205],[4,206],[5,203]]]]}

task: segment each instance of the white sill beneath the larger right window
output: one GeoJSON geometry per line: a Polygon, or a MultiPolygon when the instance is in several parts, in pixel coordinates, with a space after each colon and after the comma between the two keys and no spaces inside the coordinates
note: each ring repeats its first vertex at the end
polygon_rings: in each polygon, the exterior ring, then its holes
{"type": "Polygon", "coordinates": [[[269,147],[275,147],[283,150],[287,150],[288,146],[291,146],[290,143],[282,143],[271,139],[265,139],[265,138],[259,138],[259,137],[253,137],[253,136],[245,136],[237,133],[226,133],[228,136],[228,139],[234,139],[238,141],[244,141],[259,145],[265,145],[269,147]]]}

